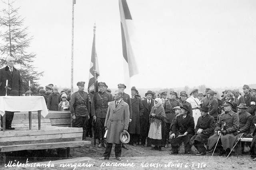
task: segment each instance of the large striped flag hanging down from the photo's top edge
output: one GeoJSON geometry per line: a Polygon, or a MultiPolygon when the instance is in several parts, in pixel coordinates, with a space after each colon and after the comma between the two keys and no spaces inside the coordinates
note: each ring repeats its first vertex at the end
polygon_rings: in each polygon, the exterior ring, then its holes
{"type": "MultiPolygon", "coordinates": [[[[121,32],[122,32],[122,47],[124,56],[124,72],[127,72],[126,66],[129,70],[129,76],[132,77],[138,74],[138,68],[134,56],[134,25],[132,16],[128,8],[126,0],[119,0],[119,10],[121,19],[121,32]]],[[[126,79],[126,78],[125,78],[126,79]]]]}

